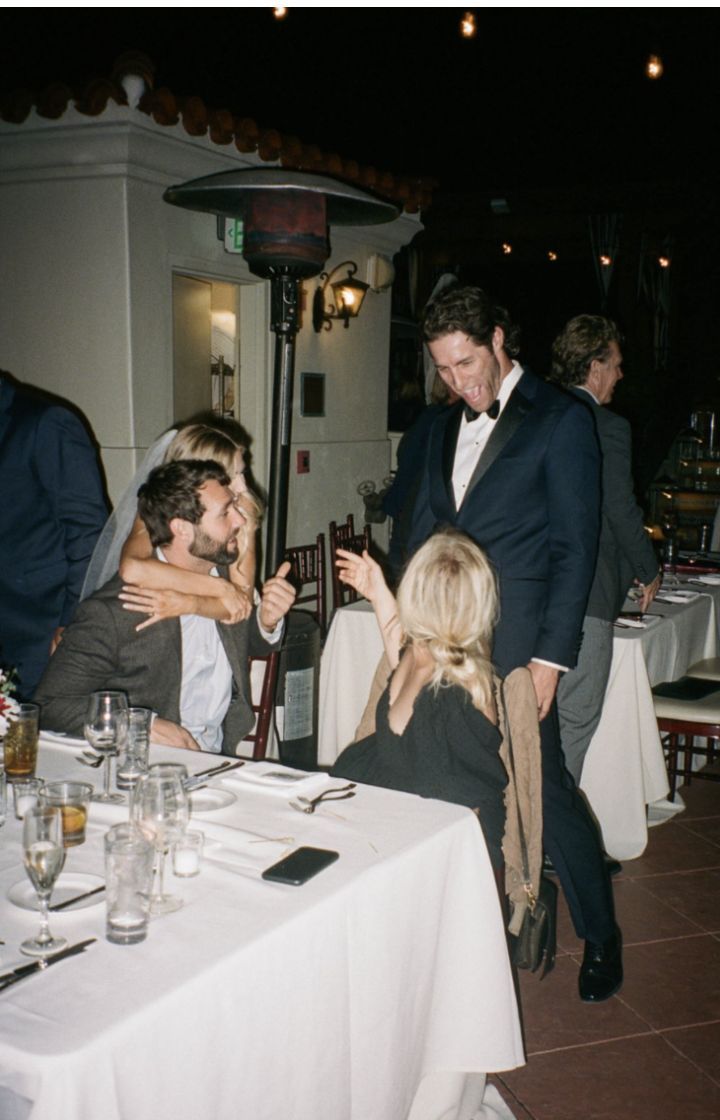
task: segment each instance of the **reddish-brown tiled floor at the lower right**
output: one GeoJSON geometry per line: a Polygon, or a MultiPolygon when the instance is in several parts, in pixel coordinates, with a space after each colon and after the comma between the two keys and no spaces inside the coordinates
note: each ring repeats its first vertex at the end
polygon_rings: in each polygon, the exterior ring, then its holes
{"type": "Polygon", "coordinates": [[[521,973],[527,1065],[493,1079],[517,1120],[720,1117],[720,783],[682,795],[686,811],[614,880],[620,992],[580,1002],[562,899],[554,971],[521,973]]]}

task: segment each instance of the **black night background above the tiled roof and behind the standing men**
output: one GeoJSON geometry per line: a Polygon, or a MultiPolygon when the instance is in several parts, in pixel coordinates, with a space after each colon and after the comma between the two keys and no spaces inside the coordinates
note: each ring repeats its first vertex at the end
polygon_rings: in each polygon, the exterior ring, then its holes
{"type": "Polygon", "coordinates": [[[614,407],[633,422],[644,488],[691,410],[720,410],[717,12],[474,10],[477,35],[465,40],[460,8],[290,8],[282,21],[271,8],[3,9],[0,96],[50,82],[80,93],[139,49],[156,88],[433,179],[426,231],[398,261],[395,319],[417,318],[453,268],[509,307],[523,358],[543,373],[569,317],[617,318],[627,376],[614,407]],[[644,74],[651,52],[665,67],[656,82],[644,74]],[[493,211],[497,198],[507,213],[493,211]],[[604,214],[620,226],[607,299],[589,239],[604,214]],[[666,250],[658,355],[639,279],[666,250]]]}

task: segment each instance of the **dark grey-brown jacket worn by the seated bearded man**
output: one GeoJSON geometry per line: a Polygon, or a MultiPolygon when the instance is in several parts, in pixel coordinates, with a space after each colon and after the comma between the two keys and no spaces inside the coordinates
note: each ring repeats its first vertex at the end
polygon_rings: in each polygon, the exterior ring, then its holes
{"type": "MultiPolygon", "coordinates": [[[[41,727],[82,737],[87,698],[97,689],[120,689],[131,704],[180,722],[180,620],[168,618],[138,633],[138,615],[124,610],[118,598],[121,587],[115,576],[77,608],[35,694],[41,727]]],[[[277,646],[261,637],[255,615],[234,626],[216,625],[233,671],[233,694],[223,724],[223,752],[232,754],[254,719],[247,657],[263,656],[277,646]]]]}

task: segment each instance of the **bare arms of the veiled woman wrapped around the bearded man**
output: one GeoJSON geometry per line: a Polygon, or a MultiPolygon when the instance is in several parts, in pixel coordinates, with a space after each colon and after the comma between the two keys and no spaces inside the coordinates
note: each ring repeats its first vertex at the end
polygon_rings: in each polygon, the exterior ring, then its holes
{"type": "MultiPolygon", "coordinates": [[[[254,532],[252,569],[254,578],[254,532]]],[[[135,517],[123,544],[120,576],[124,582],[120,598],[125,609],[149,615],[138,629],[178,615],[202,615],[218,622],[236,623],[252,610],[252,584],[244,589],[244,576],[233,580],[185,571],[152,556],[148,531],[135,517]],[[242,586],[241,586],[242,581],[242,586]]]]}

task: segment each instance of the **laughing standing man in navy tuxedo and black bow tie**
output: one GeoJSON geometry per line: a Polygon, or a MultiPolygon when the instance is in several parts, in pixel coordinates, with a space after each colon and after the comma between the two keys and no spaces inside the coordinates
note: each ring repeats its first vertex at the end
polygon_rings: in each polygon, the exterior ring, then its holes
{"type": "Polygon", "coordinates": [[[587,409],[514,361],[517,330],[479,288],[446,289],[429,306],[424,338],[460,401],[428,440],[411,550],[441,524],[468,533],[498,575],[494,663],[526,665],[537,696],[543,843],[586,942],[580,996],[607,999],[623,980],[613,892],[597,831],[565,771],[554,702],[576,664],[595,570],[600,457],[587,409]]]}

